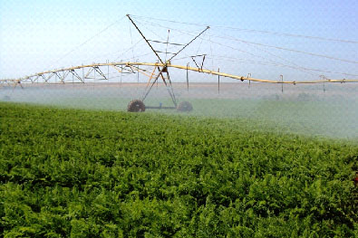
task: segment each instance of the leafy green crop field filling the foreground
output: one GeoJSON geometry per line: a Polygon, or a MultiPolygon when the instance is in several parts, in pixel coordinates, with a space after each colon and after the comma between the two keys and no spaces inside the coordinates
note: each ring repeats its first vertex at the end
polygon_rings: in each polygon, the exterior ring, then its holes
{"type": "Polygon", "coordinates": [[[356,140],[283,130],[2,102],[0,236],[357,237],[356,140]]]}

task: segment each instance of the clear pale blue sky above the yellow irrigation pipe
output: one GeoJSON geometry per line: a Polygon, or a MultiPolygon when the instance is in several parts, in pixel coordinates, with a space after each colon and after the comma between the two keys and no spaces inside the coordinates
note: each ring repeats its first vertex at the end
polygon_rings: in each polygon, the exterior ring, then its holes
{"type": "MultiPolygon", "coordinates": [[[[14,0],[0,2],[0,78],[22,77],[37,71],[46,71],[75,64],[120,61],[120,52],[140,40],[140,35],[131,27],[125,14],[156,17],[174,21],[222,25],[236,28],[294,33],[358,41],[358,1],[356,0],[287,0],[287,1],[58,1],[58,0],[14,0]],[[124,17],[124,18],[123,18],[124,17]],[[118,21],[116,23],[116,21],[118,21]],[[116,23],[101,35],[78,47],[101,32],[106,26],[116,23]],[[75,50],[74,50],[75,49],[75,50]],[[73,52],[72,52],[73,51],[73,52]],[[68,52],[71,52],[68,54],[68,52]]],[[[163,29],[145,24],[137,18],[143,32],[154,37],[160,33],[165,38],[163,29]],[[143,28],[148,27],[148,28],[143,28]]],[[[144,19],[145,20],[145,19],[144,19]]],[[[146,21],[153,21],[147,19],[146,21]]],[[[202,27],[185,24],[155,22],[180,28],[186,31],[200,32],[202,27]]],[[[233,51],[220,45],[209,45],[198,40],[191,52],[214,52],[247,61],[275,61],[302,67],[313,67],[324,71],[344,71],[358,74],[356,63],[332,61],[300,53],[279,51],[273,48],[258,47],[215,38],[226,35],[254,43],[264,43],[279,47],[296,49],[334,56],[336,58],[358,61],[357,43],[337,43],[315,41],[295,37],[283,37],[273,34],[228,31],[223,28],[210,29],[205,39],[227,44],[245,52],[233,51]],[[213,36],[210,38],[209,34],[213,36]],[[210,49],[211,47],[211,49],[210,49]],[[252,55],[254,54],[254,56],[252,55]],[[262,56],[256,58],[255,55],[262,56]],[[285,60],[285,61],[284,61],[285,60]]],[[[188,37],[173,32],[174,42],[184,43],[188,37]],[[181,38],[182,37],[182,38],[181,38]],[[180,39],[181,38],[181,39],[180,39]]],[[[173,49],[175,50],[175,49],[173,49]]],[[[134,52],[123,54],[122,58],[147,52],[144,44],[134,52]]],[[[185,54],[183,55],[185,56],[185,54]]],[[[139,57],[134,57],[139,58],[139,57]]],[[[154,61],[155,57],[135,59],[154,61]]],[[[182,62],[185,63],[185,62],[182,62]]],[[[192,62],[191,62],[192,63],[192,62]]],[[[299,80],[300,77],[317,77],[293,70],[273,66],[257,65],[253,62],[225,62],[219,59],[208,61],[208,67],[220,67],[236,74],[255,72],[258,78],[274,78],[281,73],[299,80]]],[[[339,74],[330,77],[342,78],[339,74]]],[[[353,76],[350,78],[354,78],[353,76]]],[[[356,79],[355,77],[354,79],[356,79]]]]}

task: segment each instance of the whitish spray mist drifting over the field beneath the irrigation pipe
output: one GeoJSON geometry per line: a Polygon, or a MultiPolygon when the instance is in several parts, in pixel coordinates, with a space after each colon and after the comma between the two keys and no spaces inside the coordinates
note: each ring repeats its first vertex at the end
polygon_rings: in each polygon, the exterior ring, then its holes
{"type": "MultiPolygon", "coordinates": [[[[126,111],[140,99],[145,83],[25,84],[3,87],[1,101],[50,105],[61,108],[126,111]]],[[[358,138],[358,85],[354,83],[284,85],[246,82],[174,83],[179,101],[187,100],[193,111],[147,109],[144,113],[169,113],[195,118],[248,119],[266,129],[314,137],[358,138]]],[[[172,106],[164,85],[154,85],[146,106],[172,106]]],[[[160,114],[159,114],[160,116],[160,114]]]]}

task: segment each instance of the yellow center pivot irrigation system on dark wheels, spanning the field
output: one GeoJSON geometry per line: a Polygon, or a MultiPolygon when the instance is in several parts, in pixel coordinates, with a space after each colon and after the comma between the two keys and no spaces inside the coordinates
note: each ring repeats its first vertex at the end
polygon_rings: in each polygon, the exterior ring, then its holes
{"type": "MultiPolygon", "coordinates": [[[[170,80],[169,76],[169,69],[179,69],[179,70],[185,70],[187,71],[187,86],[189,89],[189,71],[197,71],[201,73],[207,73],[210,75],[217,75],[218,76],[218,90],[219,90],[219,83],[220,83],[220,77],[226,77],[231,78],[234,80],[239,81],[256,81],[256,82],[266,82],[266,83],[278,83],[281,85],[284,84],[313,84],[313,83],[332,83],[332,82],[358,82],[358,80],[331,80],[327,79],[324,76],[321,76],[320,80],[318,81],[284,81],[283,76],[281,75],[281,78],[279,81],[271,81],[271,80],[260,80],[251,78],[251,74],[248,74],[247,77],[244,76],[238,76],[233,75],[225,72],[218,71],[210,71],[208,69],[203,69],[203,64],[205,61],[205,54],[202,55],[196,55],[191,56],[191,59],[195,63],[197,67],[189,67],[189,63],[186,66],[183,65],[175,65],[171,64],[171,60],[173,60],[180,52],[182,52],[185,48],[189,46],[189,44],[193,43],[196,39],[200,37],[203,33],[205,33],[210,27],[207,26],[201,33],[198,33],[194,38],[189,41],[189,43],[185,44],[179,44],[179,43],[169,43],[169,34],[166,42],[157,41],[157,40],[150,40],[147,39],[144,34],[140,31],[140,28],[137,24],[134,23],[134,21],[131,19],[131,15],[126,15],[131,24],[134,25],[134,27],[137,29],[137,31],[140,33],[141,37],[144,39],[144,41],[148,44],[150,47],[150,50],[155,54],[155,56],[158,58],[157,62],[105,62],[105,63],[92,63],[88,65],[80,65],[70,68],[63,68],[59,70],[52,70],[52,71],[43,71],[39,73],[35,73],[30,76],[26,76],[24,78],[20,79],[9,79],[9,80],[0,80],[0,86],[4,85],[14,85],[14,89],[17,85],[19,85],[21,88],[23,88],[22,83],[87,83],[87,79],[92,79],[93,81],[99,80],[99,81],[108,81],[110,79],[110,73],[109,69],[110,67],[114,69],[115,71],[118,71],[122,74],[125,73],[137,73],[143,74],[146,77],[149,78],[147,85],[145,87],[144,93],[140,99],[137,100],[131,100],[131,102],[128,104],[128,111],[131,112],[140,112],[145,111],[146,109],[177,109],[179,111],[190,111],[193,109],[192,105],[188,101],[181,101],[176,98],[172,82],[170,80]],[[182,46],[181,49],[179,49],[178,52],[170,52],[172,56],[169,58],[169,60],[165,59],[163,60],[160,58],[159,53],[165,53],[167,56],[169,52],[160,52],[156,51],[154,47],[152,46],[152,43],[165,43],[167,44],[167,48],[169,44],[177,46],[182,46]],[[196,62],[194,57],[202,57],[201,65],[200,63],[196,62]],[[106,74],[103,71],[103,67],[108,67],[108,73],[106,74]],[[143,67],[150,67],[150,70],[145,70],[143,67]],[[82,70],[82,73],[80,72],[82,70]],[[85,72],[84,70],[88,70],[85,72]],[[92,75],[92,76],[91,76],[92,75]],[[96,75],[99,75],[96,77],[96,75]],[[148,95],[150,94],[150,90],[152,90],[153,86],[158,83],[158,81],[162,81],[166,87],[166,89],[169,92],[169,96],[172,100],[173,106],[171,107],[163,107],[161,106],[145,106],[144,101],[147,99],[148,95]]],[[[167,58],[167,57],[166,57],[167,58]]]]}

